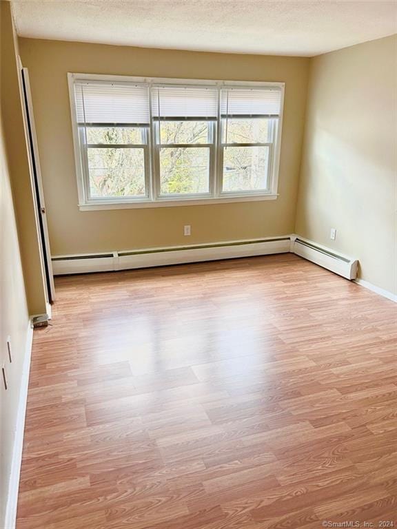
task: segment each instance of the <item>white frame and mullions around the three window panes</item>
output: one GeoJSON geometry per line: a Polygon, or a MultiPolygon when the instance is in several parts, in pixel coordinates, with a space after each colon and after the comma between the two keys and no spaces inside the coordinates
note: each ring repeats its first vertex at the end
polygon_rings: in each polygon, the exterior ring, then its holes
{"type": "MultiPolygon", "coordinates": [[[[146,78],[119,75],[68,73],[68,85],[70,96],[70,112],[72,116],[74,159],[76,163],[77,191],[79,196],[79,209],[81,211],[248,202],[253,200],[276,200],[278,197],[278,172],[280,166],[281,134],[283,128],[285,83],[267,83],[256,81],[204,81],[194,79],[163,79],[155,77],[146,78]],[[90,198],[88,189],[88,169],[86,165],[86,149],[82,147],[83,138],[81,138],[81,131],[79,131],[79,125],[77,123],[76,103],[74,96],[74,83],[79,81],[119,81],[124,83],[145,83],[148,85],[162,83],[170,85],[207,85],[218,87],[218,116],[216,122],[212,122],[214,123],[214,125],[212,125],[214,144],[210,147],[210,193],[171,194],[170,196],[160,194],[159,145],[156,144],[156,123],[154,123],[156,120],[152,116],[152,98],[150,96],[150,126],[146,134],[147,143],[139,145],[140,148],[144,148],[145,152],[145,196],[122,198],[90,198]],[[222,191],[224,145],[222,144],[221,88],[249,86],[277,87],[281,90],[281,110],[276,123],[276,129],[274,130],[274,142],[270,146],[271,148],[269,152],[269,187],[266,190],[261,189],[259,191],[222,191]]],[[[240,144],[236,144],[236,146],[238,145],[240,144]]],[[[189,146],[195,147],[196,144],[189,146]]]]}

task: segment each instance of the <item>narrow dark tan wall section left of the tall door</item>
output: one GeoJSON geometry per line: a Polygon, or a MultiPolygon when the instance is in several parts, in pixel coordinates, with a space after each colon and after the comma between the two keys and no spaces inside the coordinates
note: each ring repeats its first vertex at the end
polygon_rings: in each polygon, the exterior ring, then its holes
{"type": "Polygon", "coordinates": [[[10,3],[1,1],[1,99],[3,134],[10,167],[11,187],[17,215],[23,275],[30,314],[46,312],[34,199],[30,180],[26,134],[23,125],[17,55],[18,42],[10,3]]]}

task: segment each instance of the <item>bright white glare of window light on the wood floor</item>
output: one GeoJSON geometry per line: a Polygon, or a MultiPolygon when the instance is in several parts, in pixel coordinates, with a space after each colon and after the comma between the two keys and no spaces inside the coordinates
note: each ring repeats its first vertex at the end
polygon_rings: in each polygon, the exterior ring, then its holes
{"type": "Polygon", "coordinates": [[[174,286],[167,302],[153,297],[139,305],[139,313],[136,304],[125,309],[124,302],[121,318],[120,311],[104,308],[103,318],[88,333],[90,347],[92,333],[96,337],[92,347],[96,361],[128,361],[134,375],[218,361],[214,366],[218,374],[232,377],[243,373],[250,378],[258,369],[255,355],[268,360],[274,326],[263,293],[253,296],[251,292],[248,300],[234,284],[227,286],[224,295],[215,299],[203,296],[193,307],[190,298],[181,298],[180,293],[176,304],[177,294],[174,286]],[[161,311],[159,303],[164,305],[161,311]]]}

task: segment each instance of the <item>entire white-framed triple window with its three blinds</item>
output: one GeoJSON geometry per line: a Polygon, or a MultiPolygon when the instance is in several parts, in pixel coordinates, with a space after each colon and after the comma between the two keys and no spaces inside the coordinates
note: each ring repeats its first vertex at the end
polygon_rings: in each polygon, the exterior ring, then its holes
{"type": "Polygon", "coordinates": [[[282,83],[69,76],[81,209],[276,198],[282,83]]]}

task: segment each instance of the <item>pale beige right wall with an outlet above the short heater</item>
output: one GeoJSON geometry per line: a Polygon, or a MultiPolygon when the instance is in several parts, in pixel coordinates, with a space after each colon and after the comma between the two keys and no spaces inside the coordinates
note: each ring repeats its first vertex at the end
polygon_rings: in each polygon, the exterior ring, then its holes
{"type": "Polygon", "coordinates": [[[296,232],[397,293],[397,36],[312,59],[296,232]],[[331,227],[336,240],[329,239],[331,227]]]}

